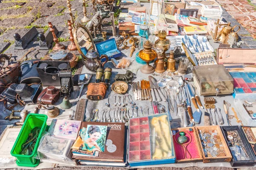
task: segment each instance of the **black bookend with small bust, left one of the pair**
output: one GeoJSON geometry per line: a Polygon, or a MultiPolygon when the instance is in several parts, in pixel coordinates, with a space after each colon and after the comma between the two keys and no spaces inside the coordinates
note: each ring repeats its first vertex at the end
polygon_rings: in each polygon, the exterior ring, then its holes
{"type": "Polygon", "coordinates": [[[35,27],[32,27],[23,37],[20,38],[20,34],[15,33],[13,35],[15,39],[15,50],[24,50],[30,41],[38,34],[35,27]]]}

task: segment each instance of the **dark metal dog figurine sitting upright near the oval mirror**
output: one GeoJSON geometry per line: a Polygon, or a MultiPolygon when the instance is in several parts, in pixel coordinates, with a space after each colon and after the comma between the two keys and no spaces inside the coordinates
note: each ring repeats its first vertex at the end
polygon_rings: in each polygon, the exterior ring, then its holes
{"type": "Polygon", "coordinates": [[[97,38],[97,28],[99,32],[102,32],[102,13],[97,11],[93,18],[86,24],[86,28],[90,31],[90,33],[94,34],[94,38],[97,38]]]}

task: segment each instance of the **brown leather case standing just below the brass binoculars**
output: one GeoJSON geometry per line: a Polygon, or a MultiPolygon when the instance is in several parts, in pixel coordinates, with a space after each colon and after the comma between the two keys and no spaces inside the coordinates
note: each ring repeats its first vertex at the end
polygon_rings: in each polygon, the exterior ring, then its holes
{"type": "Polygon", "coordinates": [[[90,83],[87,90],[87,99],[102,100],[106,94],[107,88],[104,82],[90,83]]]}

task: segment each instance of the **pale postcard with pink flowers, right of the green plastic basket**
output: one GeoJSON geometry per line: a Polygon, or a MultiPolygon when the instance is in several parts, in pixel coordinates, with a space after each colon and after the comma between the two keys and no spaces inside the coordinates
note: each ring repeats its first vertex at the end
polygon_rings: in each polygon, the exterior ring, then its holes
{"type": "Polygon", "coordinates": [[[56,137],[76,140],[81,121],[58,119],[53,134],[56,137]]]}

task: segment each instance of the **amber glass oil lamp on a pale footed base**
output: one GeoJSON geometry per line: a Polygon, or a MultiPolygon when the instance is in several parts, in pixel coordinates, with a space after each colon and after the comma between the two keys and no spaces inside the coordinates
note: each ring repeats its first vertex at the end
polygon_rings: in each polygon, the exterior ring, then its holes
{"type": "Polygon", "coordinates": [[[140,50],[138,56],[147,64],[143,65],[140,71],[144,74],[154,73],[154,67],[149,65],[149,62],[157,57],[157,53],[154,50],[152,50],[152,44],[150,40],[146,40],[145,44],[143,45],[143,48],[143,50],[140,50]]]}

